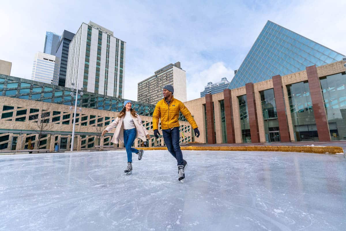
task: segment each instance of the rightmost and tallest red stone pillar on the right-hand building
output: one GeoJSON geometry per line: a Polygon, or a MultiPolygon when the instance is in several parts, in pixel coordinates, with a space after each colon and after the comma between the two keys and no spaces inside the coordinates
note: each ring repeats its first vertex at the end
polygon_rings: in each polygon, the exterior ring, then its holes
{"type": "Polygon", "coordinates": [[[310,96],[312,101],[313,115],[315,116],[318,140],[330,141],[330,133],[326,109],[321,92],[321,83],[317,75],[316,65],[307,66],[306,73],[308,75],[310,96]]]}

